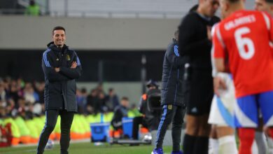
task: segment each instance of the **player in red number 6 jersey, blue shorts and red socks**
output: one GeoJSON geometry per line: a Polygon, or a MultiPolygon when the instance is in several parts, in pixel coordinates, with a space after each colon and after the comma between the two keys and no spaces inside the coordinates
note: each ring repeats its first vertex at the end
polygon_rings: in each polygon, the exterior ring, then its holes
{"type": "MultiPolygon", "coordinates": [[[[229,69],[235,83],[235,125],[239,130],[239,154],[251,153],[258,108],[273,138],[273,22],[267,13],[244,10],[243,0],[221,0],[222,22],[214,27],[212,54],[218,72],[229,69]]],[[[214,90],[225,87],[214,78],[214,90]]]]}

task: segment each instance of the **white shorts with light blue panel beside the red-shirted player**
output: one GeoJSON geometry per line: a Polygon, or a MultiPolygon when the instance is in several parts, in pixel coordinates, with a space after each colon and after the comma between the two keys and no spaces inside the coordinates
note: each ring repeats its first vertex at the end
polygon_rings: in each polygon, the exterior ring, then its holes
{"type": "Polygon", "coordinates": [[[209,113],[209,124],[235,127],[235,87],[229,73],[218,73],[225,80],[226,90],[219,90],[220,97],[214,94],[209,113]]]}

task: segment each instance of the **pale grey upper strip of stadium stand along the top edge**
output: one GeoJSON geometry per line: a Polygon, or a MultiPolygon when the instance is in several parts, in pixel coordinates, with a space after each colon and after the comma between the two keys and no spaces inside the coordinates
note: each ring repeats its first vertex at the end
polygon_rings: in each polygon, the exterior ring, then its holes
{"type": "MultiPolygon", "coordinates": [[[[197,0],[49,0],[50,15],[100,18],[181,18],[197,0]],[[66,7],[67,6],[67,7],[66,7]]],[[[246,1],[246,8],[253,8],[246,1]]]]}

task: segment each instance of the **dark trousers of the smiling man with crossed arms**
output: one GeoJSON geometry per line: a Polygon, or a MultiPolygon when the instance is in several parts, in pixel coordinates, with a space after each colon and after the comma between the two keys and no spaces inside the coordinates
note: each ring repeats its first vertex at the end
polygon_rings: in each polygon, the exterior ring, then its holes
{"type": "Polygon", "coordinates": [[[73,121],[73,112],[67,112],[65,110],[48,110],[45,111],[45,126],[41,132],[40,139],[38,141],[37,154],[42,154],[45,145],[48,143],[48,138],[51,132],[54,130],[57,123],[58,116],[61,116],[61,140],[59,141],[61,146],[61,154],[68,154],[69,141],[70,141],[70,128],[73,121]]]}

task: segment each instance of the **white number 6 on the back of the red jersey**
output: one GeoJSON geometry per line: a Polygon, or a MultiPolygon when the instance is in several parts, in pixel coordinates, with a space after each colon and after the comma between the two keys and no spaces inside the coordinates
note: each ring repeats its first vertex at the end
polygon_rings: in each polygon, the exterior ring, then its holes
{"type": "Polygon", "coordinates": [[[251,59],[255,52],[254,43],[251,38],[243,37],[244,34],[248,34],[250,31],[248,27],[241,27],[235,31],[235,41],[239,55],[242,59],[246,60],[251,59]]]}

